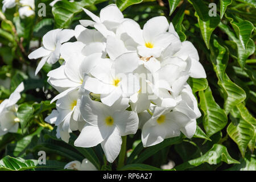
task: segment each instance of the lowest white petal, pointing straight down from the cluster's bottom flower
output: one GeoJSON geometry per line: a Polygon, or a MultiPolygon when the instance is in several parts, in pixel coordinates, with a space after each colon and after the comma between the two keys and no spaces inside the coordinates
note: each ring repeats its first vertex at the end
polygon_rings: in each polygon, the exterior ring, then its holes
{"type": "Polygon", "coordinates": [[[113,163],[121,150],[122,138],[117,128],[102,143],[101,147],[108,162],[113,163]]]}

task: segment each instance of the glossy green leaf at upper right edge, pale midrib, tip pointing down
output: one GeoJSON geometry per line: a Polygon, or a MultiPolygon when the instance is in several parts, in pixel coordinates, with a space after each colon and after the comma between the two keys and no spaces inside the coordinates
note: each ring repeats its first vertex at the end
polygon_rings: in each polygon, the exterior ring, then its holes
{"type": "MultiPolygon", "coordinates": [[[[230,23],[232,22],[233,19],[230,23]]],[[[250,39],[250,35],[254,29],[254,26],[247,20],[244,20],[240,23],[232,23],[232,26],[237,35],[230,31],[229,27],[225,24],[219,24],[221,30],[228,34],[229,38],[232,39],[234,43],[236,43],[238,63],[240,64],[241,68],[243,68],[245,67],[245,61],[247,58],[255,51],[255,44],[253,40],[250,39]]]]}

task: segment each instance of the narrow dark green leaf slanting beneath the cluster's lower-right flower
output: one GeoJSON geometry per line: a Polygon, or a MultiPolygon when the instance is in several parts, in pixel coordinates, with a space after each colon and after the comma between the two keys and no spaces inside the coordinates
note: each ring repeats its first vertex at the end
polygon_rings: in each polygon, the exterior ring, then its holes
{"type": "Polygon", "coordinates": [[[141,153],[141,155],[139,155],[138,158],[133,161],[133,163],[144,162],[144,160],[154,155],[159,150],[162,150],[164,147],[181,142],[182,138],[183,138],[183,135],[180,135],[179,137],[168,138],[163,140],[163,142],[156,144],[155,146],[147,147],[146,150],[144,150],[141,153]]]}

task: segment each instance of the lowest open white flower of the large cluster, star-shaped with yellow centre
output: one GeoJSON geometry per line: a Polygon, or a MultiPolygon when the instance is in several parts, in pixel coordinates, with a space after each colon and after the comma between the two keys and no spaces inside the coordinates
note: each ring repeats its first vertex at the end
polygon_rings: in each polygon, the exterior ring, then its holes
{"type": "Polygon", "coordinates": [[[112,163],[121,150],[121,136],[135,134],[138,130],[138,115],[125,110],[129,105],[123,100],[109,107],[83,96],[80,110],[87,123],[75,140],[75,146],[93,147],[100,143],[106,159],[112,163]]]}

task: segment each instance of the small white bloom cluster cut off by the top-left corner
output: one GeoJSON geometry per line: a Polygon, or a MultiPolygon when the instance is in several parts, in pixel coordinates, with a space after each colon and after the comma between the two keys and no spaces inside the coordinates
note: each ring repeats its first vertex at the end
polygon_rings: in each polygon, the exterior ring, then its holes
{"type": "Polygon", "coordinates": [[[18,3],[19,7],[19,16],[20,18],[25,18],[28,16],[35,15],[35,0],[3,0],[2,11],[5,12],[6,9],[11,9],[16,6],[18,3]]]}

